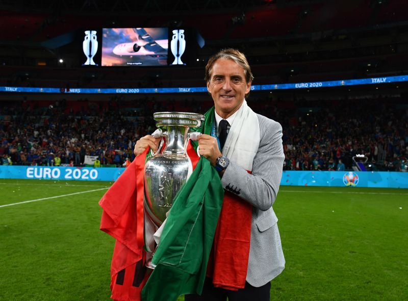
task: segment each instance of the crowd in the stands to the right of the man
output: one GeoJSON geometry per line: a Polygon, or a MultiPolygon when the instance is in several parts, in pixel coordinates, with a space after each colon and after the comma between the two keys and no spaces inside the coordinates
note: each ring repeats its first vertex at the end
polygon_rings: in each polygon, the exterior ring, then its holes
{"type": "Polygon", "coordinates": [[[361,161],[358,155],[364,155],[367,170],[406,171],[408,106],[403,103],[300,100],[293,106],[267,114],[284,129],[284,169],[350,170],[353,158],[361,161]]]}

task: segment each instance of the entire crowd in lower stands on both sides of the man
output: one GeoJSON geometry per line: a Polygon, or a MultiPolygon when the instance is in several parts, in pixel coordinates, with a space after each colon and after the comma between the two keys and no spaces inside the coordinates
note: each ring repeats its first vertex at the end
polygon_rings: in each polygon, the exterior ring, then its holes
{"type": "MultiPolygon", "coordinates": [[[[250,96],[254,111],[282,124],[285,170],[350,170],[364,154],[372,170],[406,171],[408,107],[398,99],[271,101],[250,96]]],[[[193,100],[131,104],[114,97],[74,110],[71,102],[8,102],[0,107],[0,164],[81,166],[98,156],[101,166],[133,161],[136,141],[154,132],[152,113],[203,113],[193,100]],[[126,159],[127,158],[127,159],[126,159]]]]}

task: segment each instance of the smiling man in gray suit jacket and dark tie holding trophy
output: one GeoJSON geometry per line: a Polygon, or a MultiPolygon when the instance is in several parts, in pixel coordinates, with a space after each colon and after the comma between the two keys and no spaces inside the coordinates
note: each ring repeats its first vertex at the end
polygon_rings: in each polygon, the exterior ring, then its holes
{"type": "MultiPolygon", "coordinates": [[[[231,139],[227,139],[228,135],[232,135],[230,130],[233,123],[233,129],[237,128],[237,113],[241,107],[247,107],[245,96],[249,94],[253,79],[249,64],[245,56],[236,49],[224,49],[210,58],[205,78],[208,91],[214,100],[216,137],[203,134],[198,141],[199,154],[206,157],[218,170],[225,190],[252,205],[249,259],[244,288],[237,291],[218,288],[214,287],[211,279],[207,279],[201,295],[186,295],[185,300],[226,301],[228,297],[230,301],[267,301],[270,299],[270,281],[281,273],[285,266],[277,218],[272,209],[285,159],[282,127],[278,122],[255,114],[249,109],[256,120],[256,129],[253,129],[253,118],[251,124],[248,118],[248,121],[243,120],[242,131],[245,131],[247,122],[248,127],[252,127],[250,133],[257,133],[254,135],[259,137],[254,140],[256,145],[253,155],[248,152],[248,156],[251,156],[251,173],[248,173],[241,162],[234,162],[226,154],[231,154],[231,148],[237,145],[236,143],[231,146],[231,142],[228,144],[231,139]],[[227,145],[224,148],[225,142],[230,147],[228,151],[225,151],[228,148],[227,145]]],[[[135,146],[135,154],[143,152],[147,146],[153,150],[157,149],[157,142],[152,136],[143,137],[135,146]]]]}

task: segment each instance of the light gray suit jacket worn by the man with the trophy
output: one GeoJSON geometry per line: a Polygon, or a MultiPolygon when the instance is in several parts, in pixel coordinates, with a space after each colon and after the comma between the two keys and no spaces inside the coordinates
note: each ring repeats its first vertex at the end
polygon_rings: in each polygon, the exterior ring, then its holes
{"type": "Polygon", "coordinates": [[[285,268],[277,217],[272,209],[285,160],[282,127],[274,120],[257,116],[261,141],[253,159],[252,173],[230,162],[221,179],[224,189],[253,206],[246,281],[254,287],[265,285],[285,268]]]}

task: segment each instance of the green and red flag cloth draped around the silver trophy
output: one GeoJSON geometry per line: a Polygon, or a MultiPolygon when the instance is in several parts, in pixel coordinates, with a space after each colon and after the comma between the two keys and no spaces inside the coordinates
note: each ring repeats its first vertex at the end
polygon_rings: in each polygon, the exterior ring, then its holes
{"type": "MultiPolygon", "coordinates": [[[[190,131],[210,134],[214,107],[205,117],[202,128],[190,131]]],[[[192,159],[197,156],[198,142],[189,143],[187,153],[192,159]]],[[[104,209],[100,229],[116,238],[111,297],[123,301],[175,301],[182,294],[201,294],[206,276],[213,278],[218,287],[243,288],[249,256],[251,206],[229,192],[224,195],[218,172],[203,157],[198,162],[198,158],[192,159],[193,165],[197,162],[194,171],[173,200],[152,258],[156,268],[151,274],[145,269],[140,210],[143,167],[148,156],[147,150],[138,156],[99,202],[104,209]],[[122,204],[121,210],[113,210],[118,204],[122,204]],[[135,228],[126,229],[127,226],[135,228]]]]}

